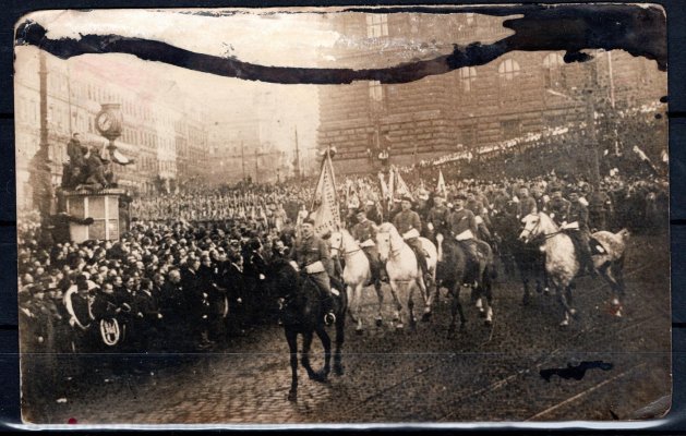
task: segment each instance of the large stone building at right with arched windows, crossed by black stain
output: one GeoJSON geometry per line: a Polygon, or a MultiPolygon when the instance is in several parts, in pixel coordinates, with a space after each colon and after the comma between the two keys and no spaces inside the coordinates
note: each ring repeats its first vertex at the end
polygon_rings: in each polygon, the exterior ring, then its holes
{"type": "MultiPolygon", "coordinates": [[[[432,59],[452,52],[452,44],[489,44],[510,32],[502,17],[473,13],[351,13],[336,20],[346,38],[324,55],[356,69],[432,59]]],[[[380,166],[384,149],[392,164],[412,165],[582,122],[589,107],[622,110],[664,95],[666,75],[654,61],[616,50],[590,55],[590,61],[565,63],[564,52],[516,51],[407,84],[322,87],[318,146],[338,149],[341,171],[364,172],[380,166]]]]}

